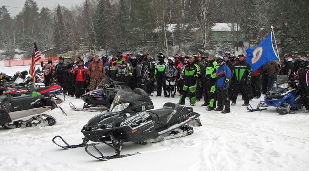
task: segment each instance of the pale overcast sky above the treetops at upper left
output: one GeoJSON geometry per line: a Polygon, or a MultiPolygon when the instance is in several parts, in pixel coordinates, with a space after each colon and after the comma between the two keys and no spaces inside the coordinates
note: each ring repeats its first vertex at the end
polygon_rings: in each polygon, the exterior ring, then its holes
{"type": "MultiPolygon", "coordinates": [[[[5,5],[9,10],[11,17],[16,16],[23,8],[26,0],[0,0],[0,6],[5,5]]],[[[39,11],[42,7],[54,9],[58,4],[71,8],[72,6],[82,4],[83,0],[34,0],[37,2],[39,11]]]]}

